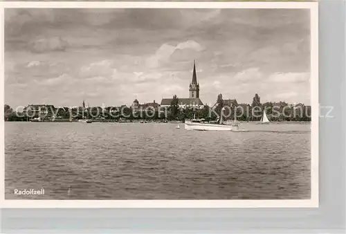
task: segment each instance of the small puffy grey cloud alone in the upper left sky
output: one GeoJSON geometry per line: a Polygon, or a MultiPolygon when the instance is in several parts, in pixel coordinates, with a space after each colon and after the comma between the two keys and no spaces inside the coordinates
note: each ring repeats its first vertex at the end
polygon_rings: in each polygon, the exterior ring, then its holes
{"type": "Polygon", "coordinates": [[[44,53],[47,51],[65,51],[69,46],[61,37],[50,37],[37,39],[29,44],[33,53],[44,53]]]}

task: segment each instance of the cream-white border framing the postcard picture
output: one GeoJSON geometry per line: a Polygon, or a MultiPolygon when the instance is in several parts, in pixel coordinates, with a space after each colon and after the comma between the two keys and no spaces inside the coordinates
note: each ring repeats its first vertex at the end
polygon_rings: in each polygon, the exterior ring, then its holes
{"type": "MultiPolygon", "coordinates": [[[[8,200],[5,199],[4,118],[0,111],[1,208],[311,208],[318,207],[317,2],[1,2],[1,96],[4,105],[4,8],[305,8],[311,10],[311,199],[302,200],[8,200]]],[[[1,108],[2,108],[1,107],[1,108]]]]}

